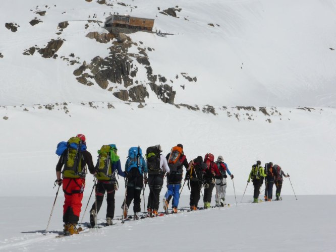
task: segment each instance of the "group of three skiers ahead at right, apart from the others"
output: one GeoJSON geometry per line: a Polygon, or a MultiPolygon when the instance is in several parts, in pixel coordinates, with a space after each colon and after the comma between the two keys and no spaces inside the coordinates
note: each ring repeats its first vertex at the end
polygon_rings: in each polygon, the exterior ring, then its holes
{"type": "MultiPolygon", "coordinates": [[[[282,200],[280,197],[281,188],[283,186],[283,176],[289,177],[289,174],[285,174],[282,168],[275,164],[273,165],[272,162],[266,163],[265,167],[261,166],[261,162],[258,160],[256,164],[252,165],[252,169],[247,179],[247,183],[251,180],[254,186],[254,193],[253,193],[253,202],[257,203],[259,194],[260,194],[260,187],[263,183],[263,179],[265,178],[265,201],[271,201],[273,197],[273,184],[275,183],[276,187],[276,200],[282,200]]],[[[246,185],[247,186],[247,185],[246,185]]]]}

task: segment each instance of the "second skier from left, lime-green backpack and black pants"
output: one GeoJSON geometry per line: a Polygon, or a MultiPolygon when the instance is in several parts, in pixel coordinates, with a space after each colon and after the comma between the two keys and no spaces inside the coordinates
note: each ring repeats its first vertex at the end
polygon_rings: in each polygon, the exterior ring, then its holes
{"type": "Polygon", "coordinates": [[[115,144],[103,145],[98,151],[98,160],[96,164],[97,178],[96,184],[96,202],[92,204],[90,210],[90,224],[93,227],[96,223],[98,214],[106,192],[106,225],[113,225],[115,216],[115,194],[118,190],[118,181],[116,172],[122,177],[126,174],[121,169],[120,158],[117,155],[118,149],[115,144]],[[96,211],[97,210],[97,211],[96,211]]]}

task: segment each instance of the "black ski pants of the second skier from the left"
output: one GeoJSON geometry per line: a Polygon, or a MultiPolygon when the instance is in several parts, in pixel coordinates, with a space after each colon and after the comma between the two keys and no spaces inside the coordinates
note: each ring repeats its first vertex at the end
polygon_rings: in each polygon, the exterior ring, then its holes
{"type": "MultiPolygon", "coordinates": [[[[110,217],[111,219],[115,216],[115,181],[104,181],[98,180],[97,182],[97,214],[100,210],[101,204],[104,199],[105,192],[107,193],[106,202],[107,202],[107,210],[106,210],[106,218],[110,217]]],[[[95,202],[93,203],[91,210],[96,209],[95,202]]],[[[90,212],[91,212],[90,210],[90,212]]]]}

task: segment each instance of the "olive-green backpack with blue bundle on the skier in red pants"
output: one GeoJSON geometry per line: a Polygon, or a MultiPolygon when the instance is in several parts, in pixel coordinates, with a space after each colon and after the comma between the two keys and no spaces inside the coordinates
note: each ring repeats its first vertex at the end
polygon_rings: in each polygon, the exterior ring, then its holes
{"type": "Polygon", "coordinates": [[[72,137],[69,139],[69,141],[67,142],[67,149],[64,149],[64,144],[61,143],[59,143],[58,148],[59,146],[63,146],[62,154],[64,154],[65,150],[67,150],[67,155],[65,157],[66,160],[64,162],[64,168],[62,171],[64,177],[85,177],[86,171],[82,171],[82,160],[84,159],[82,151],[86,150],[86,145],[83,144],[82,140],[78,137],[72,137]]]}

